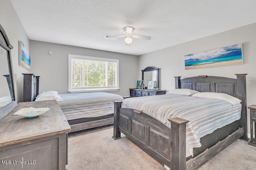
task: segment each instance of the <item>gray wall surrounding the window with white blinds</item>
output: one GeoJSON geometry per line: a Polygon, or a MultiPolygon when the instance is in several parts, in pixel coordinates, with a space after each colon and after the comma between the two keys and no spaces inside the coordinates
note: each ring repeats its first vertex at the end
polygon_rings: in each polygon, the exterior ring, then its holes
{"type": "Polygon", "coordinates": [[[30,49],[31,73],[40,76],[40,92],[68,93],[68,54],[118,59],[120,90],[110,92],[129,96],[129,88],[136,87],[138,56],[32,40],[30,49]],[[52,55],[48,55],[48,51],[52,51],[52,55]]]}

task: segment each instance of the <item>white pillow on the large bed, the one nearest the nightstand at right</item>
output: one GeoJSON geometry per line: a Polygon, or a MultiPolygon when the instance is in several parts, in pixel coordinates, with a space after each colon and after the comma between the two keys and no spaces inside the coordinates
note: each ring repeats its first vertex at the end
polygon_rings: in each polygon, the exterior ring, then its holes
{"type": "Polygon", "coordinates": [[[201,92],[192,95],[192,97],[197,97],[197,98],[209,98],[209,99],[221,99],[221,100],[226,100],[227,102],[230,102],[232,105],[238,104],[242,102],[242,100],[235,98],[233,96],[230,96],[225,93],[215,93],[215,92],[201,92]]]}

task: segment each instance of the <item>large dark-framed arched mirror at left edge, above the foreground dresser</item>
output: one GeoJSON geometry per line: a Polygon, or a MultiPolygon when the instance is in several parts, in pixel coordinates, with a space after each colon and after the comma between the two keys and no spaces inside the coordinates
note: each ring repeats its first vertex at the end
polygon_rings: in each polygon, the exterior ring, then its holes
{"type": "Polygon", "coordinates": [[[17,106],[14,94],[11,49],[13,47],[0,24],[0,119],[17,106]]]}

